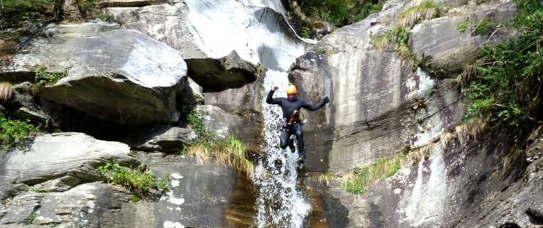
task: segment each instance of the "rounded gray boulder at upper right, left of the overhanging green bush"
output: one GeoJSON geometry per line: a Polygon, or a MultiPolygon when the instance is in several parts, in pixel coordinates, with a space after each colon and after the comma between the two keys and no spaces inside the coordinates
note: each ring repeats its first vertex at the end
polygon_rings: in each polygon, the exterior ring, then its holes
{"type": "MultiPolygon", "coordinates": [[[[517,7],[512,1],[482,4],[475,7],[466,16],[446,16],[430,21],[423,21],[413,28],[409,49],[431,75],[455,76],[478,58],[478,53],[485,45],[502,42],[510,38],[512,31],[500,26],[493,27],[489,33],[473,30],[483,20],[504,23],[513,18],[517,7]],[[458,25],[468,23],[466,31],[459,31],[458,25]],[[495,33],[493,32],[495,31],[495,33]]],[[[481,26],[488,26],[481,23],[481,26]]]]}

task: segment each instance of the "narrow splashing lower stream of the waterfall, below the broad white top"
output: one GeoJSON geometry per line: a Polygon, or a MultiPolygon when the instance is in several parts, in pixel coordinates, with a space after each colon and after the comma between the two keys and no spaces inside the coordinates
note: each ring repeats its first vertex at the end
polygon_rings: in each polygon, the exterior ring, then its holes
{"type": "MultiPolygon", "coordinates": [[[[264,78],[264,87],[288,85],[286,72],[268,72],[264,78]]],[[[266,89],[265,93],[269,90],[266,89]]],[[[276,96],[286,96],[279,89],[276,96]]],[[[266,95],[266,94],[264,94],[266,95]]],[[[264,96],[265,97],[265,96],[264,96]]],[[[262,152],[265,158],[255,168],[254,183],[258,188],[258,227],[302,227],[303,219],[308,215],[310,205],[298,189],[296,158],[298,153],[279,148],[279,130],[281,109],[277,105],[262,101],[264,115],[264,143],[262,152]]]]}

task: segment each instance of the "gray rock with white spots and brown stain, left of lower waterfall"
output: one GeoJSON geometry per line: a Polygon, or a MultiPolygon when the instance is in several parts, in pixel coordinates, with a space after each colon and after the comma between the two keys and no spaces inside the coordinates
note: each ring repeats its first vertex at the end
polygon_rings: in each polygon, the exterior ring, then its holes
{"type": "Polygon", "coordinates": [[[158,201],[123,203],[102,214],[107,227],[251,227],[256,219],[252,184],[224,166],[188,156],[137,156],[157,176],[171,176],[171,192],[158,201]]]}

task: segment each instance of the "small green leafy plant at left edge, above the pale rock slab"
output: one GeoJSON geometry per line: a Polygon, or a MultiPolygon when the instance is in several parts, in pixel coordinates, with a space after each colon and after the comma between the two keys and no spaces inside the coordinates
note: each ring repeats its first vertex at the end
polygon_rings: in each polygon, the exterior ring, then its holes
{"type": "Polygon", "coordinates": [[[9,149],[23,144],[38,132],[38,128],[28,121],[9,119],[0,113],[0,143],[2,148],[9,149]]]}

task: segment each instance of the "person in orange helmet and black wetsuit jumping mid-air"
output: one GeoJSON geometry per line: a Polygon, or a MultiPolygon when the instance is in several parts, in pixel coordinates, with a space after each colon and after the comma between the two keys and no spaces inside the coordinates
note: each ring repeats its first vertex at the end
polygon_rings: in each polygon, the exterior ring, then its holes
{"type": "Polygon", "coordinates": [[[296,146],[299,152],[298,163],[301,165],[306,158],[306,152],[303,145],[303,135],[301,131],[303,123],[300,119],[300,109],[304,108],[309,111],[315,111],[330,102],[330,99],[328,97],[324,97],[321,104],[308,104],[308,102],[305,100],[296,98],[297,91],[296,86],[294,85],[289,85],[286,87],[286,98],[273,98],[274,92],[277,89],[279,89],[278,86],[271,86],[271,91],[268,92],[266,103],[279,104],[279,107],[281,107],[281,110],[283,111],[283,127],[281,129],[281,135],[279,136],[279,147],[281,147],[281,149],[285,149],[286,146],[289,146],[291,152],[294,152],[294,140],[290,139],[291,135],[294,134],[296,136],[296,146]]]}

